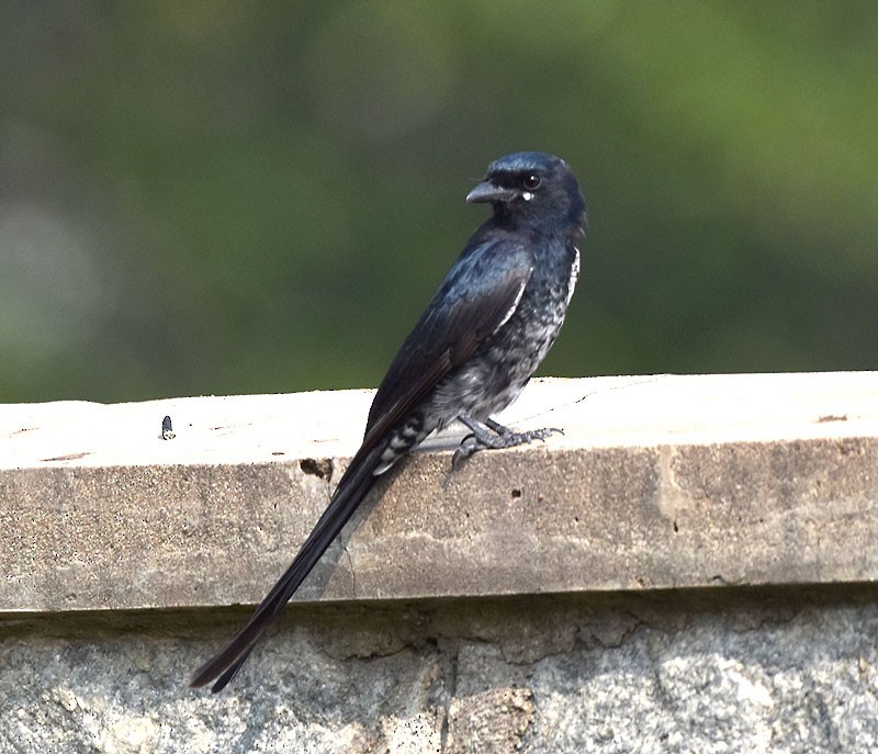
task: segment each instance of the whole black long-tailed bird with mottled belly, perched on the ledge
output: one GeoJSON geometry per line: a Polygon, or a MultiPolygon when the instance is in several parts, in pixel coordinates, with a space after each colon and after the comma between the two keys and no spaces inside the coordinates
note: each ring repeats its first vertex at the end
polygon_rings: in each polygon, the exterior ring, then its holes
{"type": "Polygon", "coordinates": [[[492,215],[391,363],[362,444],[329,505],[249,621],[195,671],[191,687],[226,687],[378,477],[428,435],[454,420],[469,429],[452,458],[459,468],[479,450],[560,431],[516,431],[492,416],[518,397],[564,322],[579,273],[577,244],[587,227],[579,184],[560,157],[519,151],[491,162],[466,202],[491,204],[492,215]]]}

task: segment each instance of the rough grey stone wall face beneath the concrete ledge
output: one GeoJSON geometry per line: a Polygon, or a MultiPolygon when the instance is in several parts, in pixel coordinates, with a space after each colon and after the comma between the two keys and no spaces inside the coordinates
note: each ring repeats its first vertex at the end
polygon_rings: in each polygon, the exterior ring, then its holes
{"type": "Polygon", "coordinates": [[[243,617],[0,624],[0,751],[878,751],[875,587],[301,606],[188,690],[243,617]]]}

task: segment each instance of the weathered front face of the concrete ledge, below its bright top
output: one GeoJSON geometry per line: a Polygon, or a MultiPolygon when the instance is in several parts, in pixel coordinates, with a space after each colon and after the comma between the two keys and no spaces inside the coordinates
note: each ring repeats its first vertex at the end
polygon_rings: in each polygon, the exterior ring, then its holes
{"type": "MultiPolygon", "coordinates": [[[[302,597],[876,581],[878,436],[834,431],[419,453],[302,597]]],[[[0,611],[258,601],[344,465],[316,460],[0,471],[0,611]]]]}

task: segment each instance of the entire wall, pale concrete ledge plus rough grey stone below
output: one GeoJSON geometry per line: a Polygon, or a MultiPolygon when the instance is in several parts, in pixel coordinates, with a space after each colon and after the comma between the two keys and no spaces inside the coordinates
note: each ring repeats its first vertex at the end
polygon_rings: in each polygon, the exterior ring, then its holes
{"type": "Polygon", "coordinates": [[[878,751],[876,376],[541,381],[563,437],[432,441],[219,696],[369,394],[0,407],[0,752],[878,751]]]}

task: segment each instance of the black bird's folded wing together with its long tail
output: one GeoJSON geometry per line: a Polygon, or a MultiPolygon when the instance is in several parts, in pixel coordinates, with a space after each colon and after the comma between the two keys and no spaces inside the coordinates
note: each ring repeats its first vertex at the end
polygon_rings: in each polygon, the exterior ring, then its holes
{"type": "Polygon", "coordinates": [[[532,271],[530,255],[506,240],[468,247],[403,344],[381,383],[365,438],[333,494],[329,506],[278,583],[228,645],[204,663],[190,683],[228,684],[271,621],[311,573],[374,482],[389,432],[455,367],[515,312],[532,271]]]}

